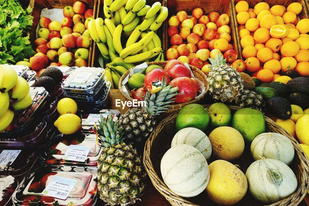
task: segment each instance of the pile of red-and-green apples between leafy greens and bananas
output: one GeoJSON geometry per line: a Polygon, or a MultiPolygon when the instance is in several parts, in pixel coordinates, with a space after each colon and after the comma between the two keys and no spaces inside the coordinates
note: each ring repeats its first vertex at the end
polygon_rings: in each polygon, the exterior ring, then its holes
{"type": "Polygon", "coordinates": [[[47,66],[87,67],[90,35],[88,23],[93,9],[82,2],[63,9],[61,23],[49,18],[40,19],[40,29],[35,40],[36,54],[30,58],[30,67],[39,72],[47,66]]]}

